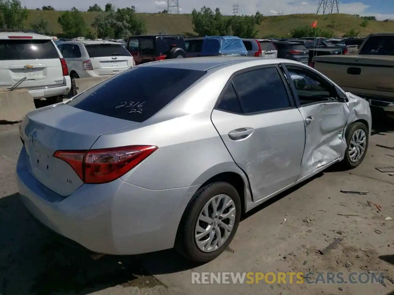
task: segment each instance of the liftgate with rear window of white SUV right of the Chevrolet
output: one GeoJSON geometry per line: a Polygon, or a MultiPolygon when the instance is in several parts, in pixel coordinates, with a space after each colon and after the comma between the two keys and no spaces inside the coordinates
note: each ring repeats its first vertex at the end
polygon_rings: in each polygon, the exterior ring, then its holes
{"type": "Polygon", "coordinates": [[[130,53],[121,44],[85,45],[93,71],[99,76],[114,75],[133,66],[130,53]]]}

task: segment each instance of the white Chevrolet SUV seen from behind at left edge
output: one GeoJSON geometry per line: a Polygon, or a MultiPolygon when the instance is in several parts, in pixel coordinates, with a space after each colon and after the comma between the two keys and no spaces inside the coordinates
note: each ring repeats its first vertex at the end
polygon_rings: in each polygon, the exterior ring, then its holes
{"type": "Polygon", "coordinates": [[[63,101],[71,89],[67,64],[52,37],[0,33],[0,87],[27,89],[34,100],[63,101]]]}

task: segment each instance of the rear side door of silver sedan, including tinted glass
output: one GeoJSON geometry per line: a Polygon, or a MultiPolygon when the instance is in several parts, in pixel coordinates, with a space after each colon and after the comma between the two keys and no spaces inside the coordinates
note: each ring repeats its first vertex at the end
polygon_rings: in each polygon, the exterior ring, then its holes
{"type": "Polygon", "coordinates": [[[247,174],[253,201],[294,183],[301,173],[304,120],[275,65],[235,74],[212,112],[212,122],[247,174]]]}

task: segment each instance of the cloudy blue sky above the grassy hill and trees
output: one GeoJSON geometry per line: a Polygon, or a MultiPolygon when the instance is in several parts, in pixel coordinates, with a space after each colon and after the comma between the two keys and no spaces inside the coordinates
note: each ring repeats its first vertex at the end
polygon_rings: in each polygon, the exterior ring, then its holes
{"type": "MultiPolygon", "coordinates": [[[[212,9],[219,7],[223,14],[232,14],[233,4],[238,1],[241,14],[252,15],[257,10],[264,15],[279,15],[292,13],[316,13],[319,0],[178,0],[180,13],[190,13],[193,8],[203,6],[212,9]]],[[[156,13],[167,8],[167,0],[20,0],[22,5],[35,9],[50,5],[56,10],[67,10],[75,6],[86,11],[95,3],[104,7],[111,2],[117,8],[134,5],[137,12],[156,13]]],[[[374,15],[378,20],[394,19],[393,0],[341,0],[340,13],[374,15]]]]}

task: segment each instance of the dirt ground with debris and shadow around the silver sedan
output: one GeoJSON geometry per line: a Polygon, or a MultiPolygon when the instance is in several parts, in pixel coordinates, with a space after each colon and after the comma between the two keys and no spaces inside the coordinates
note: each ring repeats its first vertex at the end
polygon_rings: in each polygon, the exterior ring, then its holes
{"type": "Polygon", "coordinates": [[[376,144],[394,146],[387,125],[374,130],[361,166],[325,171],[269,200],[243,218],[228,251],[191,265],[172,250],[95,260],[42,229],[17,195],[18,126],[0,125],[0,295],[388,295],[394,290],[394,172],[375,168],[394,166],[394,149],[376,144]],[[383,284],[191,284],[191,272],[207,271],[312,272],[312,280],[318,272],[345,278],[384,272],[388,278],[383,284]]]}

